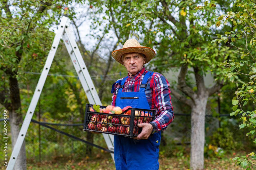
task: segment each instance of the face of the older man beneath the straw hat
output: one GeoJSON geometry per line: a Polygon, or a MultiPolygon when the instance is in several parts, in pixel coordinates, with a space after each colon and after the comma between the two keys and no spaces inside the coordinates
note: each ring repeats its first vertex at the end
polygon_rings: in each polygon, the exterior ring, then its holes
{"type": "Polygon", "coordinates": [[[145,62],[146,59],[138,53],[127,53],[123,55],[124,67],[130,75],[141,71],[145,62]]]}

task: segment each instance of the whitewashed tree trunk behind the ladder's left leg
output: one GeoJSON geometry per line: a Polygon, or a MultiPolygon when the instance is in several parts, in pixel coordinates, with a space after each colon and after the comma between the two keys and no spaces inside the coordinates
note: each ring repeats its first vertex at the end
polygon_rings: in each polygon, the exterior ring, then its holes
{"type": "MultiPolygon", "coordinates": [[[[14,110],[9,111],[10,116],[10,128],[12,133],[12,148],[14,148],[15,143],[17,141],[22,119],[20,119],[19,114],[17,114],[14,110]]],[[[19,142],[19,141],[18,141],[19,142]]],[[[9,149],[8,149],[9,151],[9,149]]],[[[15,162],[14,170],[26,170],[26,148],[25,148],[25,140],[23,141],[22,147],[19,151],[17,160],[15,162]]]]}

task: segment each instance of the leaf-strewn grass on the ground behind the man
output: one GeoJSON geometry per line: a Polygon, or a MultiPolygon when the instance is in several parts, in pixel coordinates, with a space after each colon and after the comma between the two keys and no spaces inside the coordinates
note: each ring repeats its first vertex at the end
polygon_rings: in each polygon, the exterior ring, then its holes
{"type": "MultiPolygon", "coordinates": [[[[226,154],[224,158],[205,158],[204,169],[205,170],[222,170],[222,169],[242,169],[240,166],[234,166],[232,158],[235,156],[244,155],[243,152],[233,154],[226,154]]],[[[38,162],[27,161],[28,170],[56,170],[56,169],[72,169],[72,170],[113,170],[115,165],[108,153],[98,153],[97,155],[89,158],[86,156],[82,159],[74,158],[74,155],[68,157],[58,156],[52,157],[51,160],[38,162]]],[[[159,170],[187,170],[189,169],[189,156],[183,155],[179,157],[165,157],[164,155],[159,156],[159,170]]],[[[254,167],[251,167],[252,169],[254,167]]],[[[2,167],[1,169],[5,169],[2,167]]],[[[256,169],[256,168],[254,168],[256,169]]]]}

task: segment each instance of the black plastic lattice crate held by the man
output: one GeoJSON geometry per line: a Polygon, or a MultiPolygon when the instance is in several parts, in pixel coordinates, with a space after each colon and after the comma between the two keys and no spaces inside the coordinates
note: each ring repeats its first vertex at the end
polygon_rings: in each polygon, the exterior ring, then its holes
{"type": "MultiPolygon", "coordinates": [[[[111,114],[90,111],[91,105],[86,104],[84,115],[84,131],[101,132],[126,137],[136,137],[141,133],[142,128],[137,125],[149,123],[155,120],[155,110],[128,108],[121,114],[111,114]],[[131,115],[125,114],[131,112],[131,115]]],[[[106,106],[100,106],[105,109],[106,106]]],[[[122,108],[121,108],[122,109],[122,108]]]]}

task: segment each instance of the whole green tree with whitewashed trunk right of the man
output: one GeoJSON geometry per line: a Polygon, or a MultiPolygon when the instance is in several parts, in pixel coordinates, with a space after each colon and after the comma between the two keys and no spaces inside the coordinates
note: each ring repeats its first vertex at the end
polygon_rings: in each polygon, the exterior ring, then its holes
{"type": "MultiPolygon", "coordinates": [[[[206,104],[225,82],[222,74],[226,70],[219,68],[219,64],[234,57],[232,47],[210,44],[216,32],[214,20],[217,17],[209,15],[210,12],[202,15],[195,9],[204,1],[109,0],[101,3],[93,1],[93,4],[99,4],[96,10],[106,14],[95,22],[110,25],[122,42],[137,38],[143,46],[156,49],[156,57],[146,66],[147,69],[164,74],[170,67],[180,68],[178,82],[172,82],[177,83],[176,88],[170,87],[171,95],[191,107],[190,167],[202,169],[206,104]],[[205,86],[204,75],[207,72],[211,72],[216,80],[211,88],[205,86]],[[188,73],[194,74],[195,82],[189,83],[188,73]]],[[[208,2],[205,2],[207,5],[208,2]]],[[[222,8],[216,10],[225,11],[222,8]]]]}

